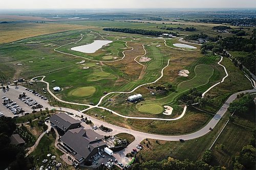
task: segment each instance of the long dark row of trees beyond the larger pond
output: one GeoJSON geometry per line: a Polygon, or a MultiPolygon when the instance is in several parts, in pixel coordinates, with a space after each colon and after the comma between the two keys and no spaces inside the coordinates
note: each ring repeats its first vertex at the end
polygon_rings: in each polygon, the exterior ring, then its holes
{"type": "Polygon", "coordinates": [[[142,30],[142,29],[104,28],[103,30],[104,31],[121,32],[121,33],[129,33],[129,34],[151,35],[151,36],[159,36],[162,34],[172,34],[174,36],[177,36],[177,33],[174,33],[174,32],[162,32],[162,31],[154,31],[154,30],[142,30]]]}

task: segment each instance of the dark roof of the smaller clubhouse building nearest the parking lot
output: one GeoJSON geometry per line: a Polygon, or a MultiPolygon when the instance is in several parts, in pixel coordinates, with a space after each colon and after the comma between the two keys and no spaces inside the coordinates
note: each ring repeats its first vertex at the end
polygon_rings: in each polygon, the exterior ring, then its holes
{"type": "Polygon", "coordinates": [[[60,129],[63,129],[63,127],[66,127],[66,129],[69,129],[69,127],[72,124],[81,123],[80,120],[74,119],[71,116],[67,115],[66,113],[54,114],[52,117],[49,118],[49,120],[60,129]]]}

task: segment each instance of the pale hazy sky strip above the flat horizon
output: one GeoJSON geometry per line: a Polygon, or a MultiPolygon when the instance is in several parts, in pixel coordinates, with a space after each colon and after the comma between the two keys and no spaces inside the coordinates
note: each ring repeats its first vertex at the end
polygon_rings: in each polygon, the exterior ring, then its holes
{"type": "Polygon", "coordinates": [[[255,0],[0,0],[0,9],[256,8],[255,0]]]}

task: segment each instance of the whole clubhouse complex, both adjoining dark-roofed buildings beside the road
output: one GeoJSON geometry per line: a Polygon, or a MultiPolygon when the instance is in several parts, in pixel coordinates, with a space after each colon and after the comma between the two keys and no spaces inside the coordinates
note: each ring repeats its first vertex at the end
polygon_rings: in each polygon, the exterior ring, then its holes
{"type": "Polygon", "coordinates": [[[77,163],[93,159],[95,154],[108,147],[102,140],[103,136],[92,129],[83,129],[80,120],[66,113],[54,114],[49,121],[53,128],[63,134],[59,144],[77,163]]]}

